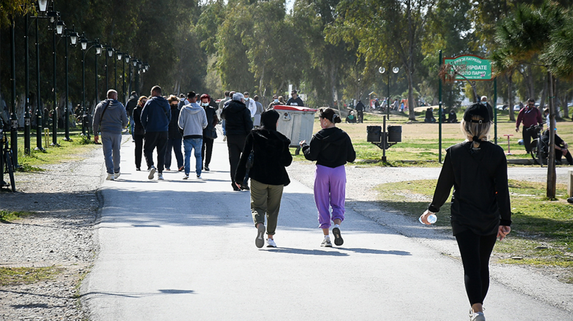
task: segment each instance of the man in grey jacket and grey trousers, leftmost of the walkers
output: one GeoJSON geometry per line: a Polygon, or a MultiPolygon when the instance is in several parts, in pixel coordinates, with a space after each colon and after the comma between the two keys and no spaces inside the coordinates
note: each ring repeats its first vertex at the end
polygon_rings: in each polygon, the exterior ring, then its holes
{"type": "Polygon", "coordinates": [[[127,126],[127,114],[123,104],[117,101],[117,91],[110,89],[105,101],[97,104],[93,111],[93,141],[99,143],[98,131],[101,131],[101,145],[104,151],[107,180],[119,177],[121,130],[127,126]]]}

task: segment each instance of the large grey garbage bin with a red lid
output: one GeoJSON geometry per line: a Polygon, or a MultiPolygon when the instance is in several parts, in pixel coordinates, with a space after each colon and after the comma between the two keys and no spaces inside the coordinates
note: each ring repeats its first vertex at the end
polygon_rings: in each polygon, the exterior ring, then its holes
{"type": "Polygon", "coordinates": [[[273,109],[280,115],[277,131],[291,139],[291,147],[297,147],[295,154],[298,155],[299,142],[311,142],[316,109],[284,105],[274,106],[273,109]]]}

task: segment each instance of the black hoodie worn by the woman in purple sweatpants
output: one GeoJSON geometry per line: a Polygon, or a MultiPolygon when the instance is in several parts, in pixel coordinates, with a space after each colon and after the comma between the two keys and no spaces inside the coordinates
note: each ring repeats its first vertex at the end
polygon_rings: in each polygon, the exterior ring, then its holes
{"type": "Polygon", "coordinates": [[[303,144],[304,157],[308,160],[316,160],[317,165],[335,168],[354,162],[356,152],[350,137],[337,127],[327,128],[316,133],[311,140],[311,145],[303,144]]]}

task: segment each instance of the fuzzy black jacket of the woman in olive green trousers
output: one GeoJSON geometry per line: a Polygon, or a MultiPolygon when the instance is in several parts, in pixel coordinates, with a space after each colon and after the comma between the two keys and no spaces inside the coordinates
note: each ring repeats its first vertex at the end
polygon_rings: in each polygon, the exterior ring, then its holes
{"type": "Polygon", "coordinates": [[[253,167],[249,177],[269,185],[288,185],[291,180],[286,173],[286,166],[292,162],[291,141],[276,130],[261,129],[249,133],[245,148],[237,166],[235,182],[245,179],[246,163],[251,151],[254,152],[253,167]]]}

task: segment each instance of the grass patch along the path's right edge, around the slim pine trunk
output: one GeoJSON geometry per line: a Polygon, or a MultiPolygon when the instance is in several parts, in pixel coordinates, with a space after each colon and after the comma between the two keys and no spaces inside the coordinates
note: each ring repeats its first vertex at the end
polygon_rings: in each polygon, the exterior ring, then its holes
{"type": "MultiPolygon", "coordinates": [[[[387,183],[377,190],[384,206],[417,219],[431,202],[436,182],[387,183]]],[[[510,180],[509,192],[512,231],[503,242],[496,243],[499,262],[566,268],[569,276],[564,282],[573,283],[573,206],[566,201],[567,186],[557,185],[557,200],[545,198],[544,183],[510,180]]],[[[437,213],[434,225],[451,231],[449,202],[437,213]]]]}

